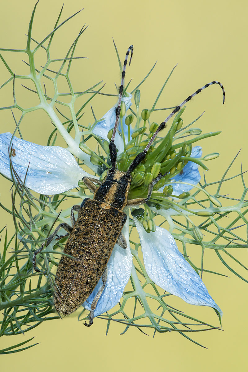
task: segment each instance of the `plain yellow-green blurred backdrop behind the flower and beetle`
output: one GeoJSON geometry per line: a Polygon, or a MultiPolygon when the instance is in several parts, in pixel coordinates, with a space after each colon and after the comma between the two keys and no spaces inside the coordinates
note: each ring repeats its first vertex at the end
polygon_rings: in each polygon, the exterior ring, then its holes
{"type": "MultiPolygon", "coordinates": [[[[1,47],[24,47],[33,6],[34,1],[31,0],[8,0],[1,4],[1,47]]],[[[51,30],[61,6],[62,1],[58,0],[39,2],[33,34],[36,39],[40,40],[51,30]]],[[[73,40],[81,25],[90,24],[77,49],[77,55],[89,57],[89,60],[75,63],[75,70],[80,71],[78,78],[74,75],[78,90],[103,80],[106,83],[105,91],[114,92],[113,83],[119,83],[120,73],[112,36],[122,59],[128,46],[134,45],[133,61],[127,71],[127,79],[133,78],[134,81],[132,87],[158,60],[157,67],[142,89],[143,108],[151,105],[177,63],[158,107],[177,105],[204,84],[219,80],[226,90],[225,105],[221,104],[220,88],[210,87],[187,105],[184,120],[191,121],[206,110],[198,122],[201,128],[204,131],[222,130],[220,136],[202,143],[204,154],[213,151],[220,153],[220,157],[212,161],[207,174],[209,180],[219,178],[240,148],[242,151],[234,170],[239,171],[241,160],[243,168],[247,169],[246,1],[65,0],[64,18],[82,7],[84,10],[61,32],[60,37],[64,39],[56,39],[54,48],[57,52],[54,57],[63,57],[59,51],[64,50],[64,44],[73,40]]],[[[15,70],[14,59],[12,68],[15,70]]],[[[6,71],[2,67],[0,71],[1,81],[4,81],[3,73],[6,74],[6,71]]],[[[6,104],[5,94],[1,100],[6,104]]],[[[12,103],[11,99],[8,102],[12,103]]],[[[97,117],[114,103],[115,99],[104,97],[94,101],[97,117]]],[[[10,113],[0,114],[0,132],[13,131],[10,113]]],[[[37,114],[26,119],[23,132],[26,139],[45,144],[44,128],[51,128],[51,124],[44,114],[37,114]]],[[[161,121],[163,118],[161,114],[161,121]]],[[[92,117],[88,115],[84,120],[92,122],[92,117]]],[[[234,170],[231,174],[234,174],[234,170]]],[[[6,180],[0,186],[1,200],[6,203],[10,200],[9,186],[6,180]]],[[[234,187],[235,193],[239,194],[241,187],[238,181],[225,188],[225,192],[234,193],[234,187]]],[[[1,225],[6,221],[11,223],[9,216],[1,212],[1,225]]],[[[247,264],[247,256],[242,254],[240,257],[247,264]]],[[[216,256],[212,255],[211,259],[217,262],[216,256]]],[[[211,259],[207,261],[209,267],[211,259]]],[[[110,327],[106,337],[105,321],[95,320],[93,327],[86,328],[72,316],[44,323],[25,336],[1,339],[0,348],[34,335],[36,342],[40,342],[22,353],[1,356],[1,371],[247,371],[248,285],[219,263],[218,266],[215,263],[216,267],[229,278],[209,275],[204,277],[204,282],[223,310],[223,331],[212,330],[193,335],[208,350],[175,333],[157,334],[153,339],[132,328],[120,336],[123,327],[117,324],[110,327]]],[[[184,308],[182,301],[180,304],[184,308]]],[[[192,307],[186,304],[184,309],[190,313],[192,307]]],[[[209,321],[218,325],[213,311],[200,308],[197,312],[200,318],[204,318],[205,314],[209,321]]]]}

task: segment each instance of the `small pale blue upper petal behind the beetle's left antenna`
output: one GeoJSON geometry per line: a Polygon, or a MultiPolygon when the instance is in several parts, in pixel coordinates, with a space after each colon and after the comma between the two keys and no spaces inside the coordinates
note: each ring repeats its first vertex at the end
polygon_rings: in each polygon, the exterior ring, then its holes
{"type": "MultiPolygon", "coordinates": [[[[122,118],[123,131],[124,131],[126,140],[128,139],[128,127],[125,125],[125,119],[126,119],[126,116],[128,115],[127,111],[129,107],[132,105],[132,102],[131,102],[132,94],[130,93],[128,94],[129,95],[127,97],[122,98],[122,102],[124,102],[126,105],[126,113],[122,118]]],[[[104,140],[107,140],[107,141],[108,141],[107,134],[110,131],[110,129],[112,129],[115,125],[115,120],[116,120],[115,110],[116,110],[116,105],[113,106],[108,112],[106,112],[102,120],[100,120],[92,130],[94,134],[97,134],[98,136],[102,137],[104,140]]],[[[119,123],[118,131],[115,137],[115,145],[117,149],[120,152],[122,152],[124,150],[123,140],[120,137],[120,135],[118,135],[118,132],[119,133],[122,132],[120,123],[119,123]]]]}

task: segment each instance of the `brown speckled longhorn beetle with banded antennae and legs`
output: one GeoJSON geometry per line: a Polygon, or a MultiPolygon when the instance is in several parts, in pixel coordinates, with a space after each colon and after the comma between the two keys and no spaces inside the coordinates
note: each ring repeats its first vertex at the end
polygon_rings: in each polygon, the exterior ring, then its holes
{"type": "MultiPolygon", "coordinates": [[[[103,182],[95,178],[83,177],[85,185],[94,193],[93,199],[86,198],[81,205],[74,205],[71,208],[71,224],[73,227],[66,223],[59,224],[46,242],[46,245],[51,243],[60,227],[64,228],[67,234],[57,235],[57,240],[70,234],[64,248],[64,253],[68,256],[73,256],[74,259],[63,255],[59,261],[55,276],[57,290],[54,296],[54,305],[59,313],[67,315],[80,307],[93,292],[93,289],[102,277],[103,285],[91,304],[89,323],[84,323],[88,327],[93,324],[94,310],[106,284],[107,262],[113,247],[115,243],[119,244],[122,248],[127,247],[125,237],[121,232],[127,218],[123,209],[125,206],[135,206],[146,203],[151,197],[154,185],[162,177],[160,173],[151,182],[148,186],[146,198],[129,200],[128,193],[132,182],[132,171],[145,158],[149,147],[157,137],[158,132],[165,128],[167,121],[177,113],[186,102],[196,96],[196,94],[210,85],[219,84],[223,92],[223,103],[225,102],[225,90],[219,81],[212,81],[204,85],[178,105],[165,121],[158,126],[145,149],[135,157],[128,170],[119,171],[116,167],[117,150],[114,141],[121,110],[126,65],[130,52],[129,65],[133,54],[132,45],[126,52],[122,80],[119,88],[119,100],[116,107],[115,126],[109,143],[112,167],[108,170],[107,176],[103,182]],[[95,183],[98,186],[94,185],[95,183]],[[75,221],[74,211],[78,212],[77,221],[75,221]]],[[[44,244],[33,254],[33,267],[37,272],[39,272],[39,270],[36,268],[36,255],[40,253],[43,248],[44,244]]]]}

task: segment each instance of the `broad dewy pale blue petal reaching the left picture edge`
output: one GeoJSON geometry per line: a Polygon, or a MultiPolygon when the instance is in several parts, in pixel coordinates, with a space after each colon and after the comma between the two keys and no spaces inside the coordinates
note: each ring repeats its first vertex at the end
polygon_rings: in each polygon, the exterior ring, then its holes
{"type": "Polygon", "coordinates": [[[25,186],[45,195],[55,195],[77,187],[78,181],[90,176],[81,169],[74,156],[59,146],[41,146],[20,140],[11,133],[0,134],[0,173],[11,179],[9,148],[13,145],[12,163],[25,186]]]}

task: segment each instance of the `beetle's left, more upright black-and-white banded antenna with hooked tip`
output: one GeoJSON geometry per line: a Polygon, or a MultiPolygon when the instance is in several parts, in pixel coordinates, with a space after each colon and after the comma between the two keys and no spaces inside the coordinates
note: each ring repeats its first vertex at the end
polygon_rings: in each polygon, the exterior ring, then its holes
{"type": "Polygon", "coordinates": [[[130,51],[131,51],[131,55],[130,55],[130,61],[128,64],[129,66],[131,64],[131,60],[133,56],[133,45],[130,45],[130,47],[128,48],[128,51],[126,52],[126,57],[125,57],[125,61],[123,64],[123,70],[122,70],[122,81],[119,87],[119,100],[118,100],[118,105],[115,109],[115,113],[116,113],[115,126],[113,128],[113,134],[112,134],[112,138],[109,144],[109,153],[110,153],[112,167],[116,166],[116,160],[117,160],[117,151],[116,151],[116,145],[114,144],[114,141],[115,141],[116,129],[117,129],[117,125],[118,125],[118,121],[120,117],[120,104],[122,102],[122,93],[123,93],[123,88],[124,88],[123,84],[124,84],[124,78],[126,74],[126,65],[128,63],[128,56],[129,56],[130,51]]]}

